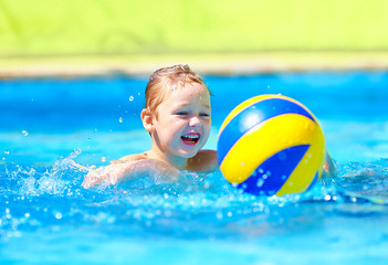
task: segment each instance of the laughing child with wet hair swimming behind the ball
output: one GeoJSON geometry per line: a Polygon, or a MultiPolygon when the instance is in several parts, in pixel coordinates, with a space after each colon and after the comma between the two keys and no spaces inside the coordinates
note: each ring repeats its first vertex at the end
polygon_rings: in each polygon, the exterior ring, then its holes
{"type": "MultiPolygon", "coordinates": [[[[151,137],[151,149],[88,172],[84,188],[103,181],[126,182],[147,174],[174,181],[179,170],[218,169],[217,152],[201,150],[211,127],[210,92],[188,65],[160,68],[149,77],[141,120],[151,137]]],[[[335,166],[326,152],[324,174],[332,173],[335,166]]]]}

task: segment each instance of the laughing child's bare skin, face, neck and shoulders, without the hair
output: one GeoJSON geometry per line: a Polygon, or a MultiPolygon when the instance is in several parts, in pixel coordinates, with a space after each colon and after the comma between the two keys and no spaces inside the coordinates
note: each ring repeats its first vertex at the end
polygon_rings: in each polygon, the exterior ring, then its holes
{"type": "Polygon", "coordinates": [[[153,173],[172,181],[179,170],[217,170],[217,152],[201,150],[211,127],[209,91],[203,84],[187,86],[189,89],[181,87],[172,92],[156,112],[141,112],[143,125],[153,140],[150,150],[125,156],[88,172],[83,187],[116,184],[153,173]]]}

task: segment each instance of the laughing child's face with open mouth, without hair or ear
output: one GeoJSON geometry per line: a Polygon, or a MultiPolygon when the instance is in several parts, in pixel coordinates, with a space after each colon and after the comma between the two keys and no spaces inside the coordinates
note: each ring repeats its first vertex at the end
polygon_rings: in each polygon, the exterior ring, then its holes
{"type": "Polygon", "coordinates": [[[205,85],[186,84],[157,108],[155,140],[167,156],[191,158],[208,140],[211,127],[210,95],[205,85]]]}

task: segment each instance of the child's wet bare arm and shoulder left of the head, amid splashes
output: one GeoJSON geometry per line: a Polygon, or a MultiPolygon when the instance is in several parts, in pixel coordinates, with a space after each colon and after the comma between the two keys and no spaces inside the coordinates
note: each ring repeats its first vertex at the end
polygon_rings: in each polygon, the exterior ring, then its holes
{"type": "Polygon", "coordinates": [[[141,155],[132,155],[115,160],[107,167],[90,171],[82,186],[90,189],[95,184],[116,184],[130,182],[145,174],[158,174],[166,181],[175,180],[179,171],[171,166],[155,159],[145,159],[141,155]]]}

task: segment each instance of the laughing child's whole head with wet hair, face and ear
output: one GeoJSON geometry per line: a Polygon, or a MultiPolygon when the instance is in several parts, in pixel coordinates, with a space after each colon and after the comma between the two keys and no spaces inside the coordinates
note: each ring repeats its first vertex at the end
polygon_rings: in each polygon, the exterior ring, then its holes
{"type": "Polygon", "coordinates": [[[191,158],[209,137],[209,89],[188,65],[158,70],[149,78],[141,119],[153,149],[169,158],[191,158]]]}

